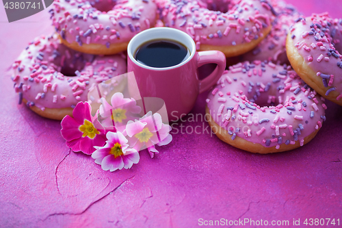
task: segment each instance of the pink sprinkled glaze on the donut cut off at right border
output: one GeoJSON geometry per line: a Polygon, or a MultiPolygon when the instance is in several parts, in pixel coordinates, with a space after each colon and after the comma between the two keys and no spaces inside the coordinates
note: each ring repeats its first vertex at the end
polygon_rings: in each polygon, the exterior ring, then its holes
{"type": "Polygon", "coordinates": [[[291,28],[291,38],[304,62],[322,79],[326,96],[334,90],[342,97],[342,19],[328,13],[313,14],[291,28]]]}

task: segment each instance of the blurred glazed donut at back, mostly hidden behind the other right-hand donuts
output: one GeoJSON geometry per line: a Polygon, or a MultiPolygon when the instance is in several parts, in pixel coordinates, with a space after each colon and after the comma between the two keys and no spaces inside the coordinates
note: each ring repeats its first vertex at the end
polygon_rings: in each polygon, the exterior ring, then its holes
{"type": "Polygon", "coordinates": [[[300,17],[300,13],[291,5],[284,2],[272,4],[278,16],[272,22],[272,30],[252,51],[235,58],[228,58],[231,65],[238,62],[253,62],[254,60],[267,60],[278,64],[289,64],[286,55],[286,38],[289,27],[300,17]]]}

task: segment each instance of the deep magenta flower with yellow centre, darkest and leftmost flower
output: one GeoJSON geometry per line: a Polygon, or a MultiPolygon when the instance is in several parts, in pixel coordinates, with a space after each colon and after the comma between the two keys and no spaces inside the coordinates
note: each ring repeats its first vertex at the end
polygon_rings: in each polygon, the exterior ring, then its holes
{"type": "Polygon", "coordinates": [[[88,102],[79,102],[73,110],[73,117],[65,116],[62,120],[61,134],[66,140],[66,146],[73,151],[92,154],[94,146],[105,144],[105,129],[91,115],[92,107],[88,102]]]}

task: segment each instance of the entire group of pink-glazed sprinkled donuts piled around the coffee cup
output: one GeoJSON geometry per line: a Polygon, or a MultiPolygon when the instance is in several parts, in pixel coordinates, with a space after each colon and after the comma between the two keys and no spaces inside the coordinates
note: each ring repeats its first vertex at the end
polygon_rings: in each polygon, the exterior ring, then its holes
{"type": "Polygon", "coordinates": [[[29,42],[12,77],[19,103],[47,118],[71,115],[90,88],[125,73],[129,40],[157,26],[185,31],[198,51],[226,55],[206,112],[234,147],[301,147],[326,121],[325,99],[342,105],[342,20],[327,13],[304,18],[276,0],[55,0],[50,13],[56,33],[29,42]]]}

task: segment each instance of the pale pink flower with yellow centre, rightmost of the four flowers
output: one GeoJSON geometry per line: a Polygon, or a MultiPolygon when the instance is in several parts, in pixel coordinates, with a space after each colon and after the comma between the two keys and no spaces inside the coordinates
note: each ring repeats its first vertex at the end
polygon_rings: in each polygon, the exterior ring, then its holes
{"type": "Polygon", "coordinates": [[[150,156],[153,157],[154,153],[159,153],[155,149],[155,144],[163,146],[172,141],[170,130],[170,125],[161,122],[160,114],[152,115],[152,112],[148,112],[139,121],[129,121],[125,132],[130,137],[131,147],[137,151],[147,148],[150,156]]]}

